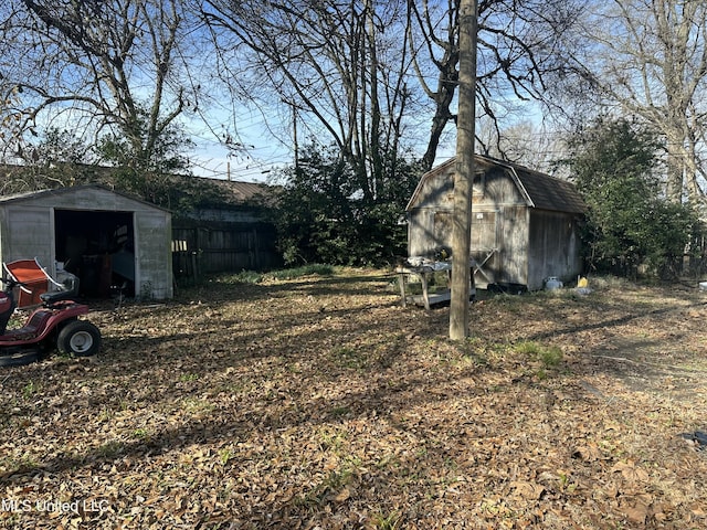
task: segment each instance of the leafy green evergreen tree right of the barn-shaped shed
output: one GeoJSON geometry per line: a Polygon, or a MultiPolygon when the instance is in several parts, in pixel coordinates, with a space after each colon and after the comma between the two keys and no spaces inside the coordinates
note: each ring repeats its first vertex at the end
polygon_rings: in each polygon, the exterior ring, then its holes
{"type": "Polygon", "coordinates": [[[567,163],[589,206],[589,267],[635,276],[646,266],[675,276],[699,225],[690,206],[668,201],[661,190],[657,136],[636,123],[602,118],[568,144],[567,163]]]}

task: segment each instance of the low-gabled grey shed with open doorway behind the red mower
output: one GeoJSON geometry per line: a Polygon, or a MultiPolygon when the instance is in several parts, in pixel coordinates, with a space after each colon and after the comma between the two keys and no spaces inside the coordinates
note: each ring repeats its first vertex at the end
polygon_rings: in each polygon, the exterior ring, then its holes
{"type": "Polygon", "coordinates": [[[0,197],[0,261],[65,268],[85,296],[171,298],[171,214],[99,184],[0,197]]]}

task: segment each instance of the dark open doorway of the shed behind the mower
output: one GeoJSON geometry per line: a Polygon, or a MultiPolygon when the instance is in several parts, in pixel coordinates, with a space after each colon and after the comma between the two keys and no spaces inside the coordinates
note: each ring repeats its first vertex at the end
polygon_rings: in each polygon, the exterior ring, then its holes
{"type": "Polygon", "coordinates": [[[80,279],[80,294],[135,296],[133,212],[54,210],[55,256],[80,279]]]}

